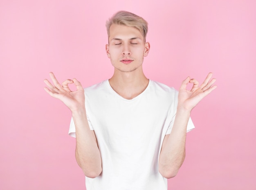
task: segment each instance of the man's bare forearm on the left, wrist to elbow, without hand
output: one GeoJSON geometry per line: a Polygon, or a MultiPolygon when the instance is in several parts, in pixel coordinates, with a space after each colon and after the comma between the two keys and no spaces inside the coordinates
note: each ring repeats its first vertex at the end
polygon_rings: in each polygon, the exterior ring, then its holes
{"type": "Polygon", "coordinates": [[[85,109],[72,112],[76,127],[76,162],[87,177],[97,177],[102,171],[97,140],[90,130],[85,109]]]}

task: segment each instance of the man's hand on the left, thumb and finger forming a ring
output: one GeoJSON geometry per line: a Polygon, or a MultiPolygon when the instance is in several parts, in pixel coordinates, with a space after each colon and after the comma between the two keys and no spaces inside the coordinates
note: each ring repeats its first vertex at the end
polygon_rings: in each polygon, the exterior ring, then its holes
{"type": "Polygon", "coordinates": [[[49,73],[52,83],[47,79],[44,80],[47,87],[45,91],[52,97],[61,100],[72,112],[80,109],[85,109],[85,94],[81,83],[76,80],[65,80],[62,85],[58,82],[53,72],[49,73]],[[76,86],[75,91],[71,91],[68,87],[69,84],[74,83],[76,86]]]}

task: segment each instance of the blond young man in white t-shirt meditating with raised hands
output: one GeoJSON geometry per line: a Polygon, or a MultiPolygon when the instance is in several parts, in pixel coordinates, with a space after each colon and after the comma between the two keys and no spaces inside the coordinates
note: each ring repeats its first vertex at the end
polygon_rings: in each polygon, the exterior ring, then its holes
{"type": "Polygon", "coordinates": [[[199,85],[187,77],[179,92],[151,81],[142,70],[150,50],[147,22],[119,11],[106,26],[113,76],[83,89],[76,79],[61,85],[50,73],[53,85],[45,79],[45,90],[72,111],[69,134],[76,137],[87,190],[166,190],[166,178],[184,161],[186,132],[194,128],[191,110],[216,88],[216,80],[209,73],[199,85]]]}

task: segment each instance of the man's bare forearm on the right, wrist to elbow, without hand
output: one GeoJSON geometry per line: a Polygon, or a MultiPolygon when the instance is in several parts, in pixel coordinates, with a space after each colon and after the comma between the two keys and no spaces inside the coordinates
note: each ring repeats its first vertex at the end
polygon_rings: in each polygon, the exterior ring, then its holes
{"type": "Polygon", "coordinates": [[[159,172],[166,178],[175,177],[185,159],[186,128],[190,111],[177,108],[171,134],[162,146],[159,156],[159,172]]]}

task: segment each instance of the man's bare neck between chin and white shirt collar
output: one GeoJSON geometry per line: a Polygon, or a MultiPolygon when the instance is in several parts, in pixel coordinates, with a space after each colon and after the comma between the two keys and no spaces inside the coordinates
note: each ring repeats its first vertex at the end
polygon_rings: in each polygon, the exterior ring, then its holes
{"type": "Polygon", "coordinates": [[[142,70],[132,72],[115,70],[114,75],[109,79],[112,89],[126,99],[132,99],[141,94],[148,86],[148,82],[142,70]]]}

